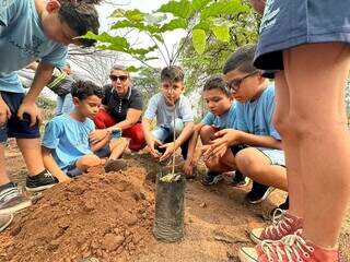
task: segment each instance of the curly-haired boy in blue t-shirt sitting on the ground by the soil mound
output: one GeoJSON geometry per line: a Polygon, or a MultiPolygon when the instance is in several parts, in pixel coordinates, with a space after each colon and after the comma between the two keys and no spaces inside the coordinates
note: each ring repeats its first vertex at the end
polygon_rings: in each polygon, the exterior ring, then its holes
{"type": "Polygon", "coordinates": [[[116,160],[128,145],[124,138],[109,142],[110,135],[91,145],[89,135],[95,129],[92,119],[101,106],[102,91],[90,81],[78,81],[72,84],[71,94],[74,110],[52,118],[42,142],[44,165],[60,182],[103,164],[100,157],[109,153],[109,160],[116,160]]]}

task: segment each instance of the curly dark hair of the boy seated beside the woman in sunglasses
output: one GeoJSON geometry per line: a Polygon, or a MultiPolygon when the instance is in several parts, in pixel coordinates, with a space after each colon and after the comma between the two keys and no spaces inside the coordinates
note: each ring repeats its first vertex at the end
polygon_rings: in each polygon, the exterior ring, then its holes
{"type": "Polygon", "coordinates": [[[92,81],[83,81],[79,80],[74,83],[72,83],[72,91],[71,91],[72,97],[77,97],[79,100],[84,100],[89,96],[97,96],[102,98],[102,88],[101,86],[94,84],[92,81]]]}

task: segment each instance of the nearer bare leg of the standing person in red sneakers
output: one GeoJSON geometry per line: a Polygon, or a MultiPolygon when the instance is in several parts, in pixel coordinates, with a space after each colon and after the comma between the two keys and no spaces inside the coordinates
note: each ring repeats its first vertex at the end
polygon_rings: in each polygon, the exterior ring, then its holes
{"type": "Polygon", "coordinates": [[[300,145],[302,180],[291,186],[304,188],[303,234],[320,247],[334,248],[350,199],[350,138],[343,105],[350,47],[304,45],[284,51],[283,61],[294,123],[284,138],[300,145]]]}

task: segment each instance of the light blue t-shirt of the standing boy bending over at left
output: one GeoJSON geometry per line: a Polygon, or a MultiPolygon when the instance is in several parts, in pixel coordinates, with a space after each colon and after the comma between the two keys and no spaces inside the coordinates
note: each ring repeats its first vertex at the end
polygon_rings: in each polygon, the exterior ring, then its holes
{"type": "Polygon", "coordinates": [[[67,47],[45,35],[35,0],[9,1],[0,8],[0,91],[23,93],[15,71],[37,59],[62,68],[66,56],[67,47]]]}

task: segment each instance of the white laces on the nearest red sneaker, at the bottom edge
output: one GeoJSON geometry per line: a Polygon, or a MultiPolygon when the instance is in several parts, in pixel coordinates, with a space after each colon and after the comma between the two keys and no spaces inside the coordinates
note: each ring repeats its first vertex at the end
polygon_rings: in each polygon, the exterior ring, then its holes
{"type": "Polygon", "coordinates": [[[283,258],[287,258],[288,262],[295,262],[293,258],[298,259],[298,262],[303,262],[302,255],[306,259],[310,258],[310,253],[314,251],[314,248],[295,234],[287,236],[279,241],[264,240],[261,250],[269,262],[283,262],[283,258]],[[277,255],[278,261],[273,260],[273,254],[277,255]]]}

